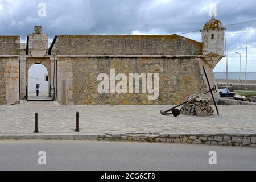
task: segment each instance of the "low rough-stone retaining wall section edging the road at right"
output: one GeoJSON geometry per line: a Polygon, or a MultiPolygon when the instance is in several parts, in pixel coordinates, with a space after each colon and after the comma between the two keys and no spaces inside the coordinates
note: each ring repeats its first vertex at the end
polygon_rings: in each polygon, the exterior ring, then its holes
{"type": "Polygon", "coordinates": [[[255,134],[105,134],[97,140],[256,147],[255,134]]]}

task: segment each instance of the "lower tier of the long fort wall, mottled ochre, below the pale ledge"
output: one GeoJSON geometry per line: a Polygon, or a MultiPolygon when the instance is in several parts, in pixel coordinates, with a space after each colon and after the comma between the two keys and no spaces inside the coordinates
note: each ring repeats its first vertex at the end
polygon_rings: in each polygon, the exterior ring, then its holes
{"type": "MultiPolygon", "coordinates": [[[[58,58],[58,98],[61,101],[62,80],[67,80],[69,104],[180,104],[191,94],[205,92],[200,71],[201,58],[58,58]],[[100,73],[159,73],[159,98],[149,100],[147,94],[100,94],[100,73]]],[[[119,81],[116,81],[116,84],[119,81]]],[[[153,81],[154,82],[154,81],[153,81]]],[[[127,83],[128,84],[128,83],[127,83]]],[[[128,89],[128,86],[127,86],[128,89]]],[[[152,94],[150,94],[152,95],[152,94]]]]}

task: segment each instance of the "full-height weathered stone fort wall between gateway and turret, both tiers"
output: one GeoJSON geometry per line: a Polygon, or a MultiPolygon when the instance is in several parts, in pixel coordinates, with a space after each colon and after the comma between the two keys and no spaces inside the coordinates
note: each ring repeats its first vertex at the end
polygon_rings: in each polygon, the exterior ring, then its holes
{"type": "Polygon", "coordinates": [[[191,94],[206,90],[201,43],[182,36],[60,35],[56,49],[60,102],[62,80],[67,81],[68,104],[180,104],[191,94]],[[110,69],[127,77],[129,73],[158,73],[158,100],[149,100],[148,94],[142,93],[98,93],[97,77],[110,75],[110,69]]]}

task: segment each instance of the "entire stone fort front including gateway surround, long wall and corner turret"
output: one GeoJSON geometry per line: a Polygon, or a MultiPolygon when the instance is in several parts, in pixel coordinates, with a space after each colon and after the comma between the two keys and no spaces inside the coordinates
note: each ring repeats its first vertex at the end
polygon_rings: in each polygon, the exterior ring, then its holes
{"type": "Polygon", "coordinates": [[[213,17],[201,33],[202,42],[179,35],[57,35],[51,47],[40,26],[28,35],[27,44],[20,44],[19,36],[0,36],[0,104],[26,98],[28,68],[33,64],[48,69],[50,100],[63,103],[65,99],[66,104],[179,104],[191,94],[208,90],[203,65],[210,84],[217,85],[213,68],[225,56],[225,28],[213,17]],[[136,73],[142,81],[129,79],[136,73]],[[104,85],[109,88],[99,91],[102,75],[109,76],[104,85]],[[151,83],[147,82],[146,89],[142,85],[136,88],[148,78],[143,75],[159,77],[158,84],[146,80],[151,83]],[[120,85],[122,92],[118,91],[120,85]],[[154,100],[149,99],[152,85],[158,85],[154,100]]]}

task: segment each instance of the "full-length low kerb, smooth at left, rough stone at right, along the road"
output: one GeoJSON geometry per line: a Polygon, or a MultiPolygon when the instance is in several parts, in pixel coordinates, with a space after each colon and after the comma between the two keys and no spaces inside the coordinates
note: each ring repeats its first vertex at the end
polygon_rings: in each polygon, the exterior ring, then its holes
{"type": "Polygon", "coordinates": [[[123,133],[123,134],[5,134],[0,140],[94,140],[110,142],[151,142],[206,144],[212,146],[256,147],[256,134],[164,134],[164,133],[123,133]]]}

